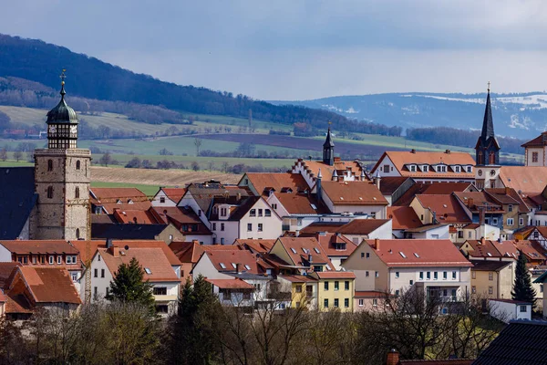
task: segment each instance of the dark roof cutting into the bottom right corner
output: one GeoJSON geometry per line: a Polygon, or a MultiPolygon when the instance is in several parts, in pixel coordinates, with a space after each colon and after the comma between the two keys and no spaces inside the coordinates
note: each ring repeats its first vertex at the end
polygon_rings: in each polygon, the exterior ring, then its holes
{"type": "Polygon", "coordinates": [[[473,364],[547,364],[547,321],[511,320],[473,364]]]}

